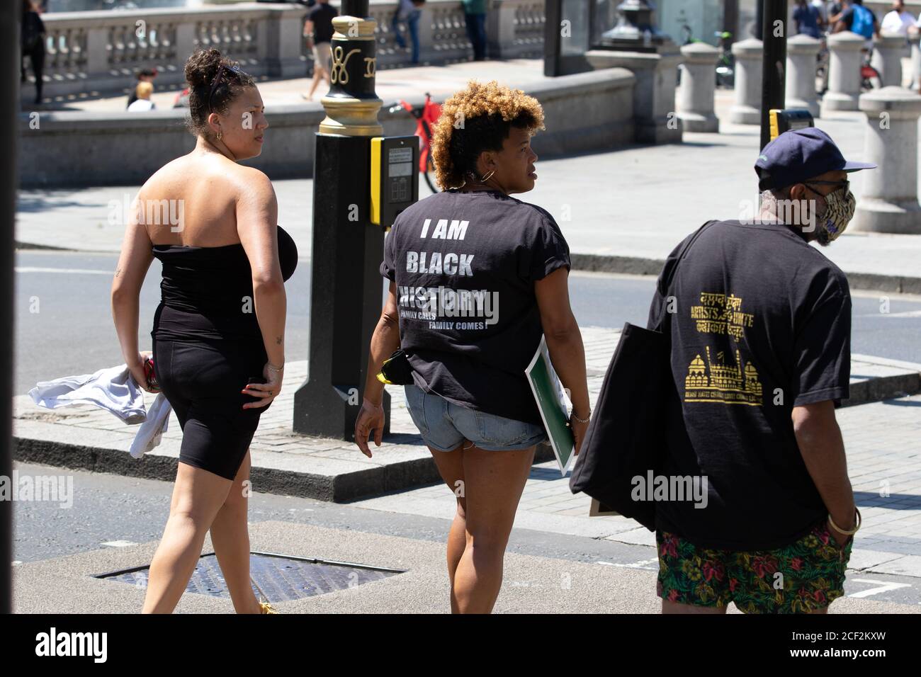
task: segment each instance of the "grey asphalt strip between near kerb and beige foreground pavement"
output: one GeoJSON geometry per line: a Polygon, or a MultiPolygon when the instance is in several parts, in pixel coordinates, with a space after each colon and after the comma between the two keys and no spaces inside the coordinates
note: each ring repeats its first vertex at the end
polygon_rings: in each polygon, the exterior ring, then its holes
{"type": "MultiPolygon", "coordinates": [[[[73,477],[73,495],[68,508],[51,501],[14,504],[14,562],[35,562],[104,547],[148,543],[158,541],[163,533],[169,516],[170,482],[30,463],[17,463],[16,467],[20,475],[73,477]]],[[[453,500],[447,489],[444,499],[453,500]]],[[[251,496],[249,519],[250,522],[290,521],[436,543],[445,542],[450,527],[448,519],[362,508],[360,501],[326,503],[258,493],[251,496]]],[[[546,531],[515,529],[508,552],[598,566],[658,570],[653,547],[546,531]]],[[[336,559],[335,555],[311,554],[321,559],[336,559]]],[[[637,589],[635,593],[654,595],[655,590],[637,589]]],[[[852,571],[845,580],[845,594],[875,601],[921,603],[919,579],[905,576],[852,571]]]]}

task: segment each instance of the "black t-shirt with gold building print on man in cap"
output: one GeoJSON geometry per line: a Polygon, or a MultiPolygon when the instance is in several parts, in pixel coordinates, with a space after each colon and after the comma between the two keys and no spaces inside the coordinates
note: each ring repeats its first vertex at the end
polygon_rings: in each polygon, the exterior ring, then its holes
{"type": "Polygon", "coordinates": [[[704,475],[708,492],[703,508],[657,503],[657,526],[703,547],[783,547],[827,514],[791,414],[848,396],[847,278],[787,226],[717,221],[663,289],[682,245],[647,323],[670,333],[678,392],[657,474],[704,475]]]}

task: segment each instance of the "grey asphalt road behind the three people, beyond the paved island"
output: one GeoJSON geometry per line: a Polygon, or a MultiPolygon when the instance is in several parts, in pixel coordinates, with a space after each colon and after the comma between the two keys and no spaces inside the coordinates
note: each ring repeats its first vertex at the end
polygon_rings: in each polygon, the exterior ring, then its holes
{"type": "MultiPolygon", "coordinates": [[[[92,373],[123,362],[111,321],[109,289],[118,257],[73,251],[17,251],[15,387],[92,373]]],[[[289,360],[307,359],[309,261],[287,282],[289,360]]],[[[149,350],[159,301],[160,264],[151,264],[141,291],[140,345],[149,350]]],[[[570,296],[579,324],[645,325],[655,280],[650,276],[574,273],[570,296]]],[[[854,293],[852,350],[921,363],[921,298],[854,293]]]]}

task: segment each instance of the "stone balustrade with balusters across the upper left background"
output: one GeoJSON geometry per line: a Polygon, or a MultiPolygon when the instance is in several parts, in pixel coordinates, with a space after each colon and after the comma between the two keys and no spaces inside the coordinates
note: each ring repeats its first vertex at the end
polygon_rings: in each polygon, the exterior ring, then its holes
{"type": "MultiPolygon", "coordinates": [[[[378,22],[378,68],[408,64],[391,20],[396,0],[371,0],[378,22]]],[[[332,6],[339,7],[338,0],[332,6]]],[[[291,4],[56,12],[42,20],[47,30],[45,96],[109,94],[129,88],[134,74],[157,67],[157,87],[180,86],[183,67],[196,49],[216,47],[256,77],[299,77],[312,60],[302,32],[308,9],[291,4]]],[[[491,0],[487,15],[490,58],[541,57],[542,0],[491,0]]],[[[408,41],[408,36],[406,36],[408,41]]],[[[423,64],[449,64],[472,55],[459,0],[428,0],[419,21],[423,64]]],[[[29,71],[29,80],[32,80],[29,71]]],[[[32,81],[34,83],[34,81],[32,81]]],[[[23,88],[29,97],[32,86],[23,88]]]]}

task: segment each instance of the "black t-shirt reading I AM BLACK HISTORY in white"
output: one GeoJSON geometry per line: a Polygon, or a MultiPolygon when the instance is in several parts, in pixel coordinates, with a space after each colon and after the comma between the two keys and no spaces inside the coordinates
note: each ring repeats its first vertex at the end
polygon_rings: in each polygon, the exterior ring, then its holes
{"type": "Polygon", "coordinates": [[[554,217],[495,191],[436,193],[384,243],[414,380],[452,403],[542,425],[524,370],[541,342],[534,282],[569,269],[554,217]]]}

